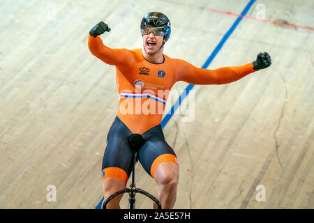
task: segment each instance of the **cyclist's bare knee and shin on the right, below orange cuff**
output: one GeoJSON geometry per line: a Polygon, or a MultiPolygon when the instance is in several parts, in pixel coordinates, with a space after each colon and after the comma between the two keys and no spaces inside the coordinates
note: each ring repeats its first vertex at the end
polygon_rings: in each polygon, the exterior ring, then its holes
{"type": "MultiPolygon", "coordinates": [[[[179,166],[174,162],[162,162],[155,172],[155,180],[158,183],[157,199],[163,209],[173,208],[177,199],[177,185],[179,181],[179,166]]],[[[154,203],[154,208],[157,205],[154,203]]]]}

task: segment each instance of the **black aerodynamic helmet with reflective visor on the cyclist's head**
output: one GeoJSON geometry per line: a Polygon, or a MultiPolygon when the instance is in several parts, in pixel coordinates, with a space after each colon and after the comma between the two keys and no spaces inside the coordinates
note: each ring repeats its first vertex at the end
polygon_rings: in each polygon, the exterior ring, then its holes
{"type": "Polygon", "coordinates": [[[171,33],[171,24],[167,16],[163,13],[152,12],[144,15],[141,22],[141,33],[149,34],[151,31],[156,36],[164,36],[165,40],[169,40],[171,33]]]}

